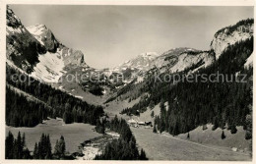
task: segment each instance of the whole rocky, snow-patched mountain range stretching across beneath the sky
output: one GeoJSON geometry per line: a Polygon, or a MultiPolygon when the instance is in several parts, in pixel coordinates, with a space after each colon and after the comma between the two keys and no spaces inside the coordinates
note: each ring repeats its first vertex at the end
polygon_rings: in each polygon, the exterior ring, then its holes
{"type": "MultiPolygon", "coordinates": [[[[106,80],[108,87],[109,84],[120,87],[133,81],[141,82],[143,78],[138,77],[152,69],[158,69],[161,73],[177,73],[187,69],[194,72],[214,63],[228,45],[253,35],[253,24],[239,22],[235,26],[219,30],[212,40],[209,51],[181,47],[162,54],[146,52],[113,69],[97,70],[86,64],[82,51],[63,45],[45,25],[24,27],[9,7],[6,20],[7,62],[38,80],[58,83],[61,88],[65,88],[65,82],[59,82],[60,78],[74,73],[75,70],[81,74],[97,74],[103,77],[124,76],[122,83],[106,80]]],[[[88,90],[85,87],[87,84],[78,83],[88,90]]]]}

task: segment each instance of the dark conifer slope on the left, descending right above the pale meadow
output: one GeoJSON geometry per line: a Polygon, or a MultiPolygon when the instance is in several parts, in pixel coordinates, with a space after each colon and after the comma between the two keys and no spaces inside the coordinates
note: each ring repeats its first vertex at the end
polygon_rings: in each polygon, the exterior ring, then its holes
{"type": "Polygon", "coordinates": [[[63,118],[66,124],[78,122],[96,125],[96,120],[103,114],[101,106],[88,104],[49,84],[29,78],[28,75],[9,65],[7,65],[6,78],[6,82],[10,85],[31,94],[51,107],[28,100],[24,95],[17,94],[7,87],[6,122],[9,126],[32,127],[47,117],[63,118]],[[21,78],[21,81],[15,80],[14,77],[21,78]]]}

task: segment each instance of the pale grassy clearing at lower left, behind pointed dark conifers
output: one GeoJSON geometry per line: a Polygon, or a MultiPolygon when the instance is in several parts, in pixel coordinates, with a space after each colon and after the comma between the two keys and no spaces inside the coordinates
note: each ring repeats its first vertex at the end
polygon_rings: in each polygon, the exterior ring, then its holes
{"type": "Polygon", "coordinates": [[[80,143],[87,139],[94,137],[100,137],[102,135],[97,134],[93,129],[95,126],[83,123],[65,124],[61,119],[49,119],[39,124],[34,128],[13,128],[6,127],[6,135],[10,131],[15,137],[17,137],[18,132],[26,135],[26,144],[28,148],[32,151],[34,143],[38,142],[41,134],[49,134],[52,150],[56,140],[61,137],[65,137],[66,150],[73,153],[78,150],[80,143]]]}

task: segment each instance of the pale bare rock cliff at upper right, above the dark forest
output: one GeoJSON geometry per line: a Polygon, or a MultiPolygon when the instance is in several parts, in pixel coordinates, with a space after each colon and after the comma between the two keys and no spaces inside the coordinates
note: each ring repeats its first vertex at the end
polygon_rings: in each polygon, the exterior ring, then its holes
{"type": "Polygon", "coordinates": [[[243,20],[234,26],[224,27],[216,32],[211,43],[211,49],[216,53],[218,59],[228,45],[232,45],[240,40],[246,40],[253,36],[253,20],[243,20]]]}

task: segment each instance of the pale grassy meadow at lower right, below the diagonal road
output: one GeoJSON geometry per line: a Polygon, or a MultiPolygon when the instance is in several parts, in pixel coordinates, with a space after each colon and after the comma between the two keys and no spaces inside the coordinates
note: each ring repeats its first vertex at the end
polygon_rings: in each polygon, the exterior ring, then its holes
{"type": "Polygon", "coordinates": [[[150,160],[250,161],[248,153],[233,152],[222,146],[211,146],[167,134],[154,134],[152,129],[131,128],[139,147],[150,160]]]}

